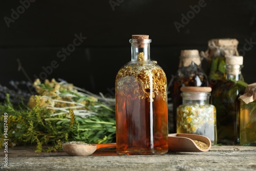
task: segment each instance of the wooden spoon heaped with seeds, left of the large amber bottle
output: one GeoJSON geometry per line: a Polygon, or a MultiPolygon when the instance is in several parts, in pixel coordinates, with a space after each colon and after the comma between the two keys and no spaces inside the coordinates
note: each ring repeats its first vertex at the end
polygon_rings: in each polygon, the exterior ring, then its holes
{"type": "Polygon", "coordinates": [[[104,147],[116,147],[116,144],[62,144],[62,149],[71,156],[90,156],[97,149],[104,147]]]}

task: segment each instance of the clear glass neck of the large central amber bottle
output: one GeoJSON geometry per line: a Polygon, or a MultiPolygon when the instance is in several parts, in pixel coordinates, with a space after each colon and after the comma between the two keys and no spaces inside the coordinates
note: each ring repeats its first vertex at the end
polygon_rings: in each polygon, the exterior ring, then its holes
{"type": "Polygon", "coordinates": [[[132,61],[150,60],[151,39],[130,39],[132,61]]]}

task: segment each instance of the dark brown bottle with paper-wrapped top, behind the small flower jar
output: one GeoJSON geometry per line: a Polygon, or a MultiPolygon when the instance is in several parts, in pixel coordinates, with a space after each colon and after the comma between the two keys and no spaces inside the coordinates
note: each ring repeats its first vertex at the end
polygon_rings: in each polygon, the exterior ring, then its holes
{"type": "Polygon", "coordinates": [[[201,57],[198,50],[181,50],[179,69],[174,75],[170,85],[171,101],[173,112],[169,112],[169,118],[173,114],[173,124],[169,124],[169,132],[176,133],[177,107],[182,104],[181,87],[208,87],[207,75],[201,68],[201,57]]]}

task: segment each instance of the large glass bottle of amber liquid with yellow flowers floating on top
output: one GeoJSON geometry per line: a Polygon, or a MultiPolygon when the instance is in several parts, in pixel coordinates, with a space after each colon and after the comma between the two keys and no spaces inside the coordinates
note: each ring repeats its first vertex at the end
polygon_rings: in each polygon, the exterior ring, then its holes
{"type": "Polygon", "coordinates": [[[168,152],[167,79],[150,59],[148,35],[132,35],[132,60],[117,73],[116,144],[118,155],[168,152]]]}

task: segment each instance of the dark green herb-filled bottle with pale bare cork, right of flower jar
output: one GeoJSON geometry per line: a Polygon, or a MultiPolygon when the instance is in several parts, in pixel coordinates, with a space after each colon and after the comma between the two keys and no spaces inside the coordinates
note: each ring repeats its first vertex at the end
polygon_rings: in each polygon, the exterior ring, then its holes
{"type": "Polygon", "coordinates": [[[211,102],[217,110],[218,143],[239,144],[240,101],[247,83],[242,80],[243,56],[227,56],[226,80],[212,92],[211,102]]]}

